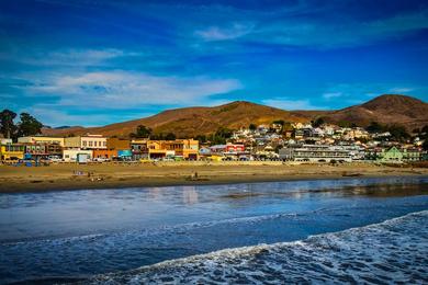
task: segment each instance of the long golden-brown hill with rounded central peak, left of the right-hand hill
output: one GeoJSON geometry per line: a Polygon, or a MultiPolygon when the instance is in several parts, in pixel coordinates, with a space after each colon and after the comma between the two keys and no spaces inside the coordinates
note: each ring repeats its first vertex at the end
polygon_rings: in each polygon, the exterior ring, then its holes
{"type": "Polygon", "coordinates": [[[50,135],[81,135],[86,133],[102,134],[105,136],[128,136],[138,125],[145,125],[155,133],[173,133],[178,137],[192,137],[200,134],[212,134],[218,127],[237,129],[248,127],[249,124],[270,124],[275,119],[289,122],[306,122],[309,118],[295,115],[291,112],[259,105],[245,101],[236,101],[214,107],[184,107],[168,110],[157,115],[134,119],[103,127],[48,129],[50,135]]]}

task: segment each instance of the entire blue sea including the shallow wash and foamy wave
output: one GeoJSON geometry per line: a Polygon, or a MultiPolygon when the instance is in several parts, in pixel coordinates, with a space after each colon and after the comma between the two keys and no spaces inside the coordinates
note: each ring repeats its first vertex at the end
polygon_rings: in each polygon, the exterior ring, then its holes
{"type": "Polygon", "coordinates": [[[0,195],[0,283],[427,283],[428,178],[0,195]]]}

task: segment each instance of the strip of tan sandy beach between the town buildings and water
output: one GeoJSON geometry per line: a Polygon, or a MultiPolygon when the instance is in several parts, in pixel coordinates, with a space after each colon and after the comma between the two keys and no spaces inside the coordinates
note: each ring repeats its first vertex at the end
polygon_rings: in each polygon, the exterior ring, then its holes
{"type": "Polygon", "coordinates": [[[273,161],[0,166],[0,193],[402,175],[428,175],[428,169],[273,161]]]}

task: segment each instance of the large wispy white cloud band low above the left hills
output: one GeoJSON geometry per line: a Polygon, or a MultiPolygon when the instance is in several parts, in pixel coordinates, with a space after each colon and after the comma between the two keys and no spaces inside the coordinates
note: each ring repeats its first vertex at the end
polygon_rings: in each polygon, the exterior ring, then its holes
{"type": "Polygon", "coordinates": [[[27,95],[59,96],[58,106],[129,109],[145,105],[206,104],[211,95],[241,88],[235,79],[156,77],[143,72],[103,71],[50,75],[23,87],[27,95]]]}

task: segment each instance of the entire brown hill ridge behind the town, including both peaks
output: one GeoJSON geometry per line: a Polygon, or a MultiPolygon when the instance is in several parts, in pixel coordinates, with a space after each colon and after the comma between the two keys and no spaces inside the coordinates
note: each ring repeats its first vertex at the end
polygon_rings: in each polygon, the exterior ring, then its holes
{"type": "Polygon", "coordinates": [[[326,122],[349,122],[367,126],[371,122],[381,124],[399,124],[408,129],[428,125],[428,104],[421,100],[406,96],[385,94],[367,103],[353,105],[337,111],[285,111],[246,101],[235,101],[228,104],[204,107],[183,107],[167,110],[157,115],[115,123],[102,127],[44,128],[45,135],[82,135],[86,133],[105,136],[126,137],[136,130],[138,125],[145,125],[155,133],[173,133],[178,137],[194,137],[212,134],[218,127],[237,129],[249,124],[270,124],[277,119],[285,122],[311,122],[323,117],[326,122]]]}

